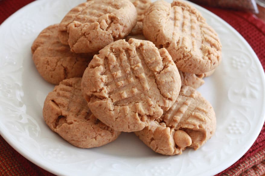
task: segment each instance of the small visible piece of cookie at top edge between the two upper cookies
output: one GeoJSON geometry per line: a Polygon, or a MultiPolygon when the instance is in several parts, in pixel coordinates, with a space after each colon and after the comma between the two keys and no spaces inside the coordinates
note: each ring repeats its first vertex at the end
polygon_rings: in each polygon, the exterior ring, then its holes
{"type": "Polygon", "coordinates": [[[145,15],[145,12],[152,3],[150,0],[129,0],[135,6],[137,10],[137,21],[142,21],[145,15]]]}

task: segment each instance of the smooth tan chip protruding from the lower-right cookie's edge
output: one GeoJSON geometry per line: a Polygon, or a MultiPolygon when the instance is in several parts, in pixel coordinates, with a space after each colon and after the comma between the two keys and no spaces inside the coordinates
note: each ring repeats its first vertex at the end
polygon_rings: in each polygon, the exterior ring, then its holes
{"type": "Polygon", "coordinates": [[[185,148],[191,145],[192,140],[185,131],[178,130],[174,134],[174,140],[178,147],[185,148]]]}

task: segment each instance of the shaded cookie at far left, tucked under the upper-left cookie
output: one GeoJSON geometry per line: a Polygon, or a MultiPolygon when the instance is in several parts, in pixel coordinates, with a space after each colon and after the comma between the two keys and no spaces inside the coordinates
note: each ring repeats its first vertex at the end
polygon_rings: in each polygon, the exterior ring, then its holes
{"type": "Polygon", "coordinates": [[[58,85],[64,79],[82,77],[91,54],[76,54],[58,38],[58,24],[40,32],[32,44],[32,59],[40,75],[49,83],[58,85]]]}

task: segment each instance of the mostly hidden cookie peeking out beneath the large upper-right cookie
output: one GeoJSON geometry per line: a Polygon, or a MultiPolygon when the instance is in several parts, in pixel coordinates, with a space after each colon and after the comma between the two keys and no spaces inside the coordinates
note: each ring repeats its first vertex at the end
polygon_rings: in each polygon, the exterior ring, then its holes
{"type": "Polygon", "coordinates": [[[179,71],[179,74],[181,79],[181,86],[186,85],[197,89],[204,84],[204,80],[195,74],[185,73],[182,71],[179,71]]]}

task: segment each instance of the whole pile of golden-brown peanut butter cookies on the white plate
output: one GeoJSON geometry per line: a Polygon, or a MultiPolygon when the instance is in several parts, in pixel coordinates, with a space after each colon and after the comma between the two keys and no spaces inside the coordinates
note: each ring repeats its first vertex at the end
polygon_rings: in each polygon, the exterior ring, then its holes
{"type": "Polygon", "coordinates": [[[221,48],[187,2],[84,2],[32,45],[38,72],[56,85],[44,120],[81,148],[123,131],[164,155],[196,150],[214,134],[216,117],[195,89],[221,62],[221,48]]]}

